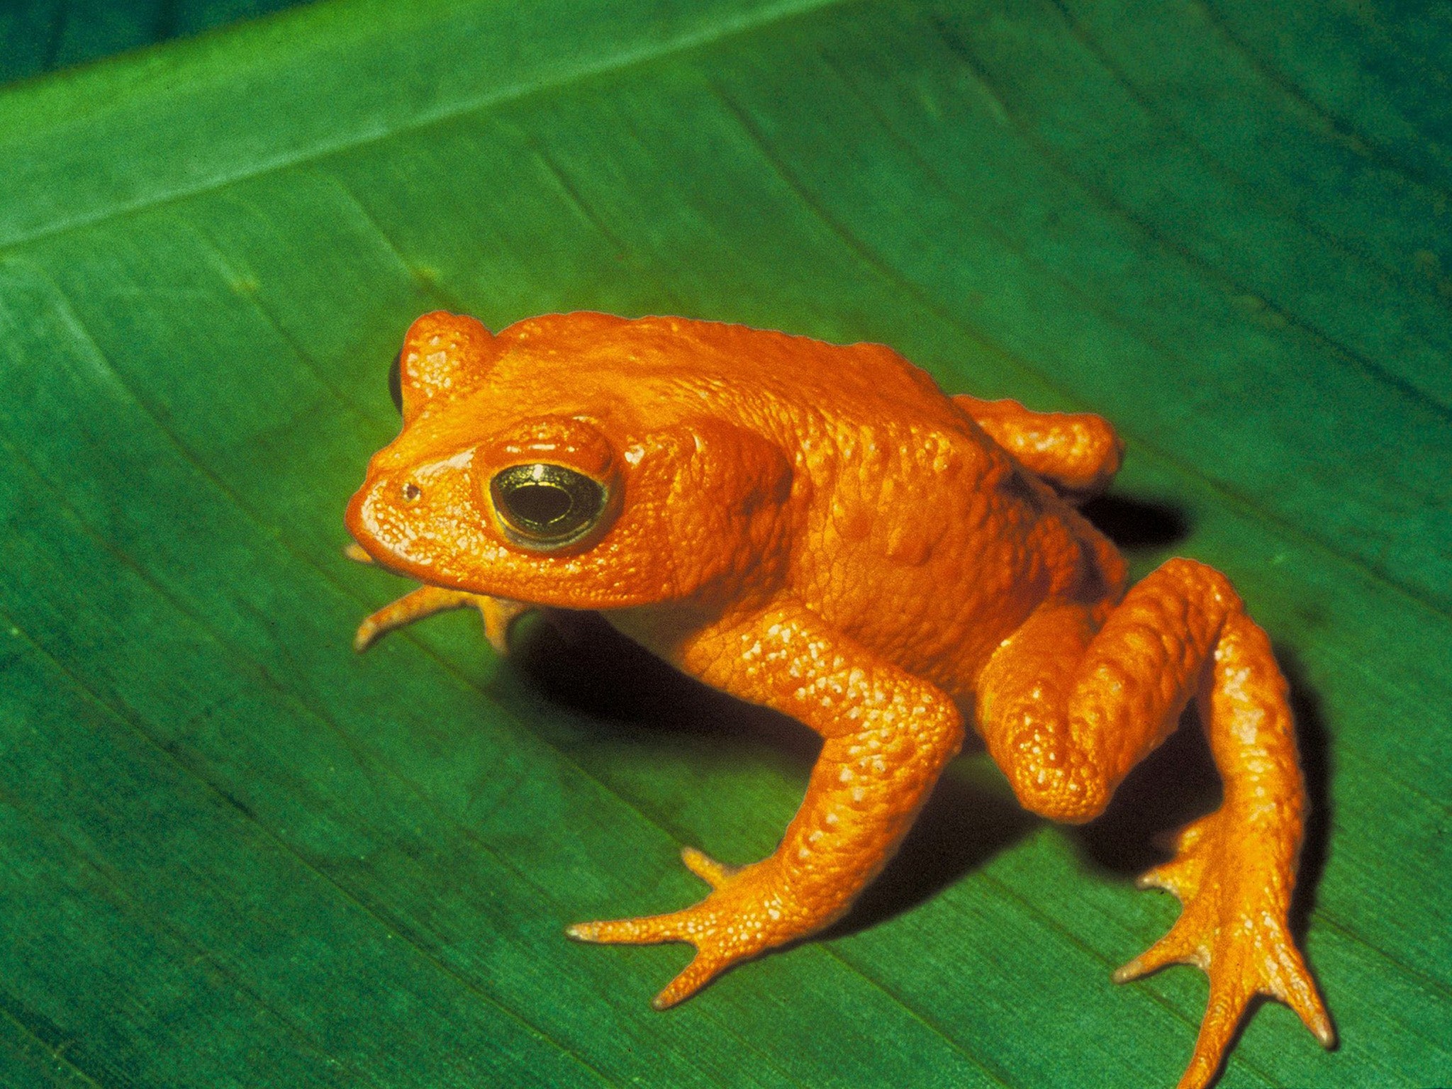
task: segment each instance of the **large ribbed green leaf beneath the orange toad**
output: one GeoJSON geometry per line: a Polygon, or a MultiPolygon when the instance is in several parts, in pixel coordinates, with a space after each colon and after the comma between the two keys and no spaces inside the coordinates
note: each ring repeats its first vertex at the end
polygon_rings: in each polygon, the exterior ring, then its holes
{"type": "Polygon", "coordinates": [[[685,947],[563,938],[697,899],[682,844],[770,851],[812,746],[592,629],[353,655],[402,584],[341,510],[440,306],[876,340],[1108,415],[1101,514],[1240,587],[1318,807],[1342,1045],[1266,1005],[1223,1083],[1452,1080],[1448,23],[344,0],[0,91],[0,1080],[1179,1074],[1204,977],[1108,976],[1175,918],[1128,878],[1211,803],[1189,733],[1099,831],[964,756],[854,926],[669,1013],[685,947]]]}

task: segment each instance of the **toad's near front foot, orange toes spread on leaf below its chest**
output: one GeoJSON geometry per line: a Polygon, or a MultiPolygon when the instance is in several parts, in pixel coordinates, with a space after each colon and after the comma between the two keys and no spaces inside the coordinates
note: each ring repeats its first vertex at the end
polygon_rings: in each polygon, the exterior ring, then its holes
{"type": "Polygon", "coordinates": [[[713,889],[700,903],[639,919],[578,922],[565,931],[578,941],[624,945],[685,941],[694,945],[691,963],[652,1000],[656,1009],[688,999],[732,964],[806,937],[836,918],[817,919],[796,908],[774,858],[729,867],[688,847],[681,851],[681,860],[713,889]]]}

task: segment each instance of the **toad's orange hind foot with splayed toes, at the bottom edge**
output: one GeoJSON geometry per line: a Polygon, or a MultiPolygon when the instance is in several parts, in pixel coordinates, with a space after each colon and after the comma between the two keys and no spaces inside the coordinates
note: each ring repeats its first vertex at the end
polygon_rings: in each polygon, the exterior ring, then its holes
{"type": "MultiPolygon", "coordinates": [[[[1183,828],[1176,857],[1140,878],[1185,905],[1169,934],[1117,973],[1117,983],[1167,964],[1194,964],[1210,976],[1210,1003],[1178,1089],[1208,1085],[1250,999],[1270,995],[1300,1015],[1323,1047],[1336,1032],[1316,982],[1285,921],[1289,889],[1273,868],[1237,849],[1237,822],[1225,809],[1183,828]]],[[[1239,826],[1243,833],[1244,828],[1239,826]]]]}

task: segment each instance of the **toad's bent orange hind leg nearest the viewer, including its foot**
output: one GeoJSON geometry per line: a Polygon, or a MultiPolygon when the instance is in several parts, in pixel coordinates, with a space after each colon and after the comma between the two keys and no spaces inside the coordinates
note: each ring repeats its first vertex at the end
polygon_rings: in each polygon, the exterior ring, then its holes
{"type": "Polygon", "coordinates": [[[1330,1018],[1286,926],[1305,791],[1286,685],[1270,643],[1220,572],[1176,559],[1117,607],[1040,608],[984,668],[980,729],[1019,800],[1088,820],[1198,698],[1224,802],[1141,878],[1185,905],[1115,979],[1172,963],[1210,976],[1210,1005],[1180,1089],[1199,1089],[1255,995],[1289,1005],[1324,1044],[1330,1018]]]}

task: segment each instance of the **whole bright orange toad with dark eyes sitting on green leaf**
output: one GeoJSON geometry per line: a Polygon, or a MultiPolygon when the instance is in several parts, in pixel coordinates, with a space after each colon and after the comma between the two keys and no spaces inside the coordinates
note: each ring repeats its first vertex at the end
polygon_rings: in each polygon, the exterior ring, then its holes
{"type": "Polygon", "coordinates": [[[656,1006],[841,918],[964,722],[1027,809],[1083,822],[1195,700],[1224,803],[1143,877],[1185,908],[1115,979],[1210,974],[1180,1086],[1214,1077],[1257,993],[1330,1045],[1286,928],[1305,799],[1285,681],[1217,571],[1173,559],[1127,587],[1076,510],[1119,466],[1104,420],[948,398],[880,346],[681,318],[550,315],[494,335],[428,314],[398,366],[404,430],[347,526],[424,585],[369,617],[360,648],[459,605],[501,649],[526,608],[600,610],[825,739],[770,858],[687,848],[713,889],[694,908],[569,928],[696,945],[656,1006]]]}

